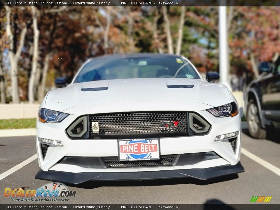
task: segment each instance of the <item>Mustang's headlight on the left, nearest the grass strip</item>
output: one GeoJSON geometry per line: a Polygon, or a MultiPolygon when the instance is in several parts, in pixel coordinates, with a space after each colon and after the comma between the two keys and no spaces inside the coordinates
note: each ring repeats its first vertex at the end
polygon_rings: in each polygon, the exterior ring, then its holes
{"type": "Polygon", "coordinates": [[[39,111],[39,120],[41,122],[61,122],[64,120],[69,114],[51,110],[51,109],[46,109],[46,108],[41,108],[39,111]]]}

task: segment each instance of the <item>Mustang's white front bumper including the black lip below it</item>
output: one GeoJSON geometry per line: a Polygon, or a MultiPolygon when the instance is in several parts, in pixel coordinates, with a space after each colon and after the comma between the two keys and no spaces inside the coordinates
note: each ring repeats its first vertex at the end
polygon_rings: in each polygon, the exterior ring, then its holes
{"type": "MultiPolygon", "coordinates": [[[[158,106],[158,103],[156,105],[158,106]]],[[[133,107],[132,104],[127,104],[126,106],[133,107]]],[[[149,106],[151,106],[150,103],[149,106]]],[[[165,105],[163,104],[162,106],[165,105]]],[[[183,111],[182,104],[174,104],[172,106],[174,106],[174,110],[183,111]]],[[[160,154],[179,155],[214,152],[220,158],[212,160],[203,159],[192,161],[189,164],[174,164],[174,166],[163,167],[108,168],[63,164],[60,161],[64,157],[118,157],[117,139],[69,139],[67,137],[65,130],[71,122],[78,116],[93,113],[90,107],[88,109],[80,107],[73,108],[74,110],[67,110],[67,113],[70,113],[70,115],[60,123],[50,122],[44,124],[37,122],[36,148],[41,170],[36,174],[36,178],[78,184],[88,180],[143,180],[179,177],[209,179],[243,171],[243,167],[239,166],[241,148],[240,116],[216,118],[206,111],[211,106],[199,103],[192,104],[192,106],[196,107],[188,108],[188,110],[197,112],[206,119],[212,125],[211,130],[207,135],[160,138],[160,154]],[[239,135],[236,139],[235,150],[233,150],[228,140],[214,141],[217,135],[236,131],[239,131],[239,135]],[[62,141],[63,146],[49,146],[45,157],[43,157],[38,137],[62,141]]],[[[143,109],[145,107],[143,106],[143,109]]],[[[130,110],[128,107],[125,108],[130,110]]],[[[152,108],[155,110],[155,107],[152,108]]],[[[104,108],[97,107],[97,110],[99,109],[103,111],[104,108]]],[[[171,110],[171,107],[163,107],[162,110],[171,110]]]]}

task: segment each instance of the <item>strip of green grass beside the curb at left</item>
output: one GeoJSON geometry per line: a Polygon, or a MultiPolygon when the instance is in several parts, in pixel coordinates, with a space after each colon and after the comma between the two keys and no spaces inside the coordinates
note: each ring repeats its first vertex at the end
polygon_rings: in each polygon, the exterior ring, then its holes
{"type": "Polygon", "coordinates": [[[0,129],[35,128],[36,118],[0,120],[0,129]]]}

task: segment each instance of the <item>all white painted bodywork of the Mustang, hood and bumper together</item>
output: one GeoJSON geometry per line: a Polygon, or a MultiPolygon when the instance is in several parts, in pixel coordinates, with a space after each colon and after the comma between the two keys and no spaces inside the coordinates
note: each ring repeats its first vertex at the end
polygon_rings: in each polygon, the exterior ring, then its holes
{"type": "Polygon", "coordinates": [[[141,78],[71,83],[66,88],[50,91],[40,108],[48,108],[70,115],[62,122],[42,123],[37,120],[36,144],[39,166],[43,171],[112,172],[155,171],[190,168],[208,168],[240,160],[240,115],[216,118],[208,108],[237,101],[221,84],[202,79],[141,78]],[[167,88],[167,85],[194,85],[193,88],[167,88]],[[108,87],[104,91],[83,92],[81,88],[108,87]],[[90,169],[70,164],[57,164],[64,156],[111,157],[118,156],[116,139],[69,139],[65,129],[79,116],[93,113],[128,111],[191,111],[199,113],[212,128],[207,135],[160,139],[161,155],[214,151],[222,158],[196,164],[172,167],[90,169]],[[228,140],[217,141],[217,135],[239,131],[236,152],[228,140]],[[62,141],[62,147],[50,146],[43,159],[38,137],[62,141]]]}

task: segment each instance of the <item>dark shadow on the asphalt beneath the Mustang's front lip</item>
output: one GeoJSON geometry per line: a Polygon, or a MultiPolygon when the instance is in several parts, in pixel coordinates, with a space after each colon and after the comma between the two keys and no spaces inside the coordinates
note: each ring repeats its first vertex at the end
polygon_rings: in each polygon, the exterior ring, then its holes
{"type": "Polygon", "coordinates": [[[237,179],[238,174],[217,177],[209,180],[199,180],[195,178],[176,178],[176,179],[157,179],[157,180],[142,180],[142,181],[88,181],[78,185],[67,184],[67,186],[94,189],[99,187],[131,187],[131,186],[160,186],[160,185],[178,185],[178,184],[195,184],[208,185],[224,181],[237,179]]]}

